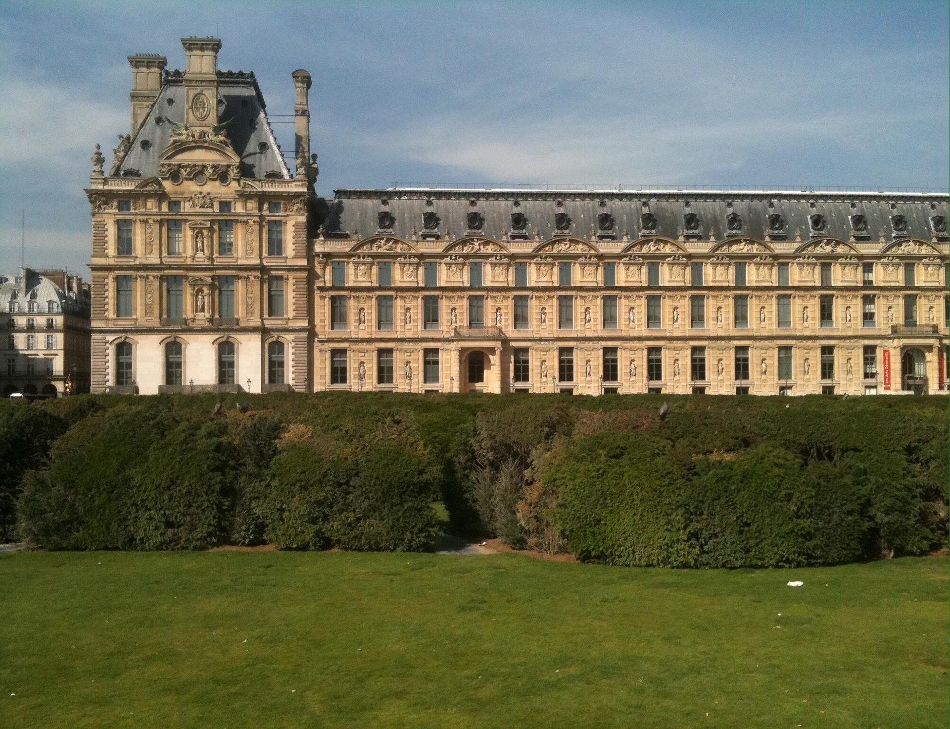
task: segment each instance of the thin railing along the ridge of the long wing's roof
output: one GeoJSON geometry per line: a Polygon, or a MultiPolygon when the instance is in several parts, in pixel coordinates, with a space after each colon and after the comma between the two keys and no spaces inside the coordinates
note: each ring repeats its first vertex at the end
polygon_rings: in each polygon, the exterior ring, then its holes
{"type": "Polygon", "coordinates": [[[393,182],[390,190],[524,190],[525,192],[831,192],[950,194],[946,187],[888,185],[554,184],[521,182],[393,182]]]}

